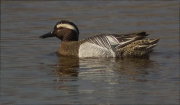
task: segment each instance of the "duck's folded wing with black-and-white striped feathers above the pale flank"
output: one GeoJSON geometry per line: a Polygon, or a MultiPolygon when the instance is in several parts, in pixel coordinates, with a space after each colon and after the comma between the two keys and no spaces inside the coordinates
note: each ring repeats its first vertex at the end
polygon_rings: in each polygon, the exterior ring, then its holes
{"type": "Polygon", "coordinates": [[[89,42],[103,48],[113,49],[114,47],[124,47],[133,41],[144,39],[148,34],[146,32],[129,34],[101,34],[83,40],[83,43],[89,42]]]}

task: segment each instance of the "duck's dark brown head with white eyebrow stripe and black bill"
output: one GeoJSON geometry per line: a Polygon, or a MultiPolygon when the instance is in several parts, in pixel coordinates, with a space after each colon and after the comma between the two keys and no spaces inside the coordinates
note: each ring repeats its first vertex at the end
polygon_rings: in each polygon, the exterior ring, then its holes
{"type": "Polygon", "coordinates": [[[79,30],[77,26],[69,21],[62,20],[56,23],[54,29],[39,38],[57,37],[61,41],[78,41],[79,30]]]}

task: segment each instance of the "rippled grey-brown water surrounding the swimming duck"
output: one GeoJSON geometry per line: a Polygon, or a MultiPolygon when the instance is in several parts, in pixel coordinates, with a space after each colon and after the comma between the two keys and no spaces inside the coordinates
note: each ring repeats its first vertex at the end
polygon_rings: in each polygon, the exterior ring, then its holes
{"type": "Polygon", "coordinates": [[[1,104],[179,104],[178,1],[1,1],[1,104]],[[80,39],[146,31],[150,59],[58,57],[69,20],[80,39]]]}

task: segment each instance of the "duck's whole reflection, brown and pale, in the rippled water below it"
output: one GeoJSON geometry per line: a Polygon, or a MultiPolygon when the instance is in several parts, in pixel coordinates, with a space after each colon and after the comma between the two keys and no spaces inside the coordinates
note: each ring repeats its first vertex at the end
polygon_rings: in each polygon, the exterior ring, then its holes
{"type": "Polygon", "coordinates": [[[58,58],[58,66],[54,69],[56,90],[65,92],[67,96],[81,96],[84,100],[87,95],[92,99],[102,98],[106,94],[113,98],[121,94],[133,95],[139,89],[148,89],[146,85],[141,88],[136,83],[148,82],[148,75],[156,68],[155,62],[150,59],[58,58]],[[130,88],[125,89],[124,86],[130,88]]]}

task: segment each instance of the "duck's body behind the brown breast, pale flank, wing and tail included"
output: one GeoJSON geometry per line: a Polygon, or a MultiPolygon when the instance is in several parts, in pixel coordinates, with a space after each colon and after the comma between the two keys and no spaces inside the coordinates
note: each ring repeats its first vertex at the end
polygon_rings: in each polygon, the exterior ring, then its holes
{"type": "Polygon", "coordinates": [[[80,41],[79,56],[116,57],[147,55],[159,39],[146,39],[146,32],[102,34],[80,41]],[[123,55],[124,54],[124,55],[123,55]]]}

